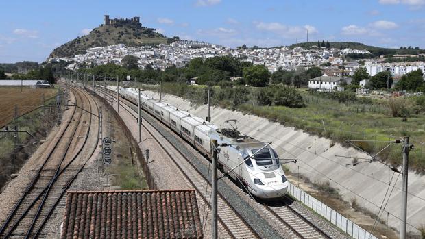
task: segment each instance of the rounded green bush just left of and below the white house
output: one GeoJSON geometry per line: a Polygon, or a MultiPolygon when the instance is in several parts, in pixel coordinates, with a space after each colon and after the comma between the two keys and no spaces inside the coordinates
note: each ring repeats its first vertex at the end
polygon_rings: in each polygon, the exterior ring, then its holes
{"type": "Polygon", "coordinates": [[[289,86],[278,86],[275,88],[274,104],[291,108],[301,108],[305,106],[300,92],[289,86]]]}

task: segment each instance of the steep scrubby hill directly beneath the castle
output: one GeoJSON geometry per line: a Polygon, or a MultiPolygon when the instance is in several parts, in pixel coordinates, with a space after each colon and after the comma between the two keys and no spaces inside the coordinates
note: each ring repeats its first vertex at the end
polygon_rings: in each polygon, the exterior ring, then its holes
{"type": "Polygon", "coordinates": [[[167,37],[157,33],[153,28],[143,27],[141,23],[127,19],[118,19],[114,21],[114,25],[102,24],[86,36],[79,36],[66,42],[54,49],[49,58],[84,54],[91,47],[105,47],[121,43],[127,46],[158,45],[167,43],[167,40],[167,37]]]}

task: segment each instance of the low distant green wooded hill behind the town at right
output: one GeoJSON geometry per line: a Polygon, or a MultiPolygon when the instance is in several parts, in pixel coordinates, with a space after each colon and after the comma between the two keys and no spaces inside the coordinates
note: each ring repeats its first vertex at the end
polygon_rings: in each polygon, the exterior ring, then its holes
{"type": "MultiPolygon", "coordinates": [[[[378,57],[380,55],[395,55],[395,54],[409,54],[409,55],[417,55],[420,53],[425,53],[424,49],[419,49],[419,47],[400,47],[400,49],[395,48],[385,48],[385,47],[374,47],[365,45],[360,42],[329,42],[331,48],[350,48],[350,49],[359,49],[359,50],[368,50],[372,53],[372,55],[378,57]]],[[[317,47],[317,42],[301,42],[297,44],[293,44],[289,47],[295,48],[295,47],[303,47],[303,48],[310,48],[310,47],[317,47]]]]}

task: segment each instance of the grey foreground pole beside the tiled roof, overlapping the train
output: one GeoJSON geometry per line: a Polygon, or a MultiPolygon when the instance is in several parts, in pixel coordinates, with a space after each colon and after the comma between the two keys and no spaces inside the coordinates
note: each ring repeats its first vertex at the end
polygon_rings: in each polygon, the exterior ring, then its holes
{"type": "Polygon", "coordinates": [[[213,199],[211,200],[211,212],[213,213],[211,218],[211,233],[212,238],[217,239],[217,161],[218,161],[218,144],[217,140],[211,140],[212,146],[213,146],[213,168],[211,169],[213,172],[213,177],[211,178],[211,197],[213,199]]]}

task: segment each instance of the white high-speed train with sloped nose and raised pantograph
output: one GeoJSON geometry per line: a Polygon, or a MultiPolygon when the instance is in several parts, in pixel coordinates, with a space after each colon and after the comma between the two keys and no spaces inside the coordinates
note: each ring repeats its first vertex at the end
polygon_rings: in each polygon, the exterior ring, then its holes
{"type": "MultiPolygon", "coordinates": [[[[116,90],[114,87],[110,89],[116,90]]],[[[135,89],[121,88],[119,94],[137,104],[138,92],[135,89]]],[[[158,118],[208,158],[213,154],[211,140],[217,140],[219,145],[229,145],[220,147],[218,166],[223,173],[230,172],[228,175],[251,194],[261,199],[275,199],[287,193],[287,178],[276,151],[268,143],[243,136],[233,126],[232,129],[218,127],[147,95],[141,95],[141,105],[143,110],[158,118]]],[[[236,121],[230,122],[230,125],[232,123],[236,121]]]]}

